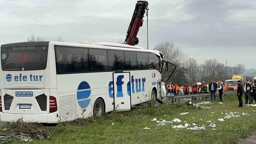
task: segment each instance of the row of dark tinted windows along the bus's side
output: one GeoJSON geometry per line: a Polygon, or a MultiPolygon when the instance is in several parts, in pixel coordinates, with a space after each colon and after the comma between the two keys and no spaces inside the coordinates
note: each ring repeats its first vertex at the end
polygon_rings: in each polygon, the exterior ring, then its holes
{"type": "Polygon", "coordinates": [[[149,52],[56,46],[55,53],[58,74],[114,70],[160,70],[160,58],[149,52]]]}

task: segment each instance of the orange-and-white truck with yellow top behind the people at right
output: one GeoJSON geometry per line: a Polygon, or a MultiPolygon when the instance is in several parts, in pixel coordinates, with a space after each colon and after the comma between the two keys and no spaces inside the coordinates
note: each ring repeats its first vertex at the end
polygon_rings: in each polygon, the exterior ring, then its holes
{"type": "Polygon", "coordinates": [[[237,81],[242,80],[242,85],[244,86],[244,81],[248,80],[253,80],[254,76],[252,75],[245,75],[245,74],[239,74],[239,75],[233,75],[230,80],[225,80],[225,85],[228,86],[228,90],[233,91],[237,90],[237,81]]]}

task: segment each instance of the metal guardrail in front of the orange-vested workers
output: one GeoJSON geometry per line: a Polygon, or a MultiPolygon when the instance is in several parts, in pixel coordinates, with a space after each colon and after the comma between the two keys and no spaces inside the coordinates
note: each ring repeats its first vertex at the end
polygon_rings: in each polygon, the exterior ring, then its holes
{"type": "MultiPolygon", "coordinates": [[[[228,95],[232,95],[232,94],[236,94],[236,91],[232,91],[232,92],[223,92],[222,97],[223,96],[228,96],[228,95]]],[[[190,100],[192,100],[192,102],[194,102],[194,100],[208,100],[211,98],[211,94],[207,93],[207,94],[190,94],[190,95],[182,95],[182,96],[168,96],[167,100],[172,100],[172,104],[176,103],[176,102],[182,102],[182,100],[184,98],[189,98],[190,100]]],[[[216,93],[216,99],[219,98],[219,93],[216,93]]]]}

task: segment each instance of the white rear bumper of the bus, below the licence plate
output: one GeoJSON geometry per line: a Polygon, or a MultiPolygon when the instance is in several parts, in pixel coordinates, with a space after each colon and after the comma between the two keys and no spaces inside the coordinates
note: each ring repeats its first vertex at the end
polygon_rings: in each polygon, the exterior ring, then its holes
{"type": "Polygon", "coordinates": [[[51,114],[8,114],[0,112],[1,122],[15,122],[21,119],[24,122],[36,122],[36,123],[58,123],[57,112],[51,114]]]}

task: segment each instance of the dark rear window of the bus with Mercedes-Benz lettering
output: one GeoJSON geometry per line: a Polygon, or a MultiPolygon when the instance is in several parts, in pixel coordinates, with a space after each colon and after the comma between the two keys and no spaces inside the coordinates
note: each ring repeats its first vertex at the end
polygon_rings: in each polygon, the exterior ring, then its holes
{"type": "Polygon", "coordinates": [[[48,45],[2,46],[2,70],[44,70],[47,53],[48,45]]]}

